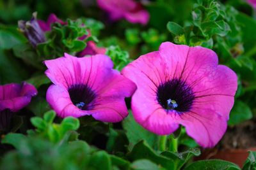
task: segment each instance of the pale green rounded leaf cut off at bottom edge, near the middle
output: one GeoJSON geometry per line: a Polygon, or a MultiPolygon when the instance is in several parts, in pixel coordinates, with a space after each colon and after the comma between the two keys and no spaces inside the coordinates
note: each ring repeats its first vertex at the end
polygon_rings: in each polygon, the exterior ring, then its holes
{"type": "Polygon", "coordinates": [[[131,167],[134,170],[159,170],[157,164],[147,159],[136,160],[132,162],[131,167]]]}

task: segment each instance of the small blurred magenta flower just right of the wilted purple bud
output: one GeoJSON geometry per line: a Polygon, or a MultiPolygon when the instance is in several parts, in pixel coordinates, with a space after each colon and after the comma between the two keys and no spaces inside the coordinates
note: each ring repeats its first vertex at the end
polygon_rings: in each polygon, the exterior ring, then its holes
{"type": "Polygon", "coordinates": [[[58,22],[62,25],[67,24],[66,22],[63,22],[60,20],[54,13],[51,13],[49,17],[47,18],[47,21],[45,22],[44,20],[38,20],[38,24],[40,28],[46,32],[46,31],[51,31],[51,25],[55,22],[58,22]]]}

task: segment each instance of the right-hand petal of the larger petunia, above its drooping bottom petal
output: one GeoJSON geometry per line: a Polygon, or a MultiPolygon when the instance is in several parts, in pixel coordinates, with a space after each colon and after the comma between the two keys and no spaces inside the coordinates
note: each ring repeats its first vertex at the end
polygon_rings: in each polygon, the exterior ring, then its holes
{"type": "Polygon", "coordinates": [[[192,87],[195,94],[193,108],[215,110],[228,120],[237,90],[237,76],[234,71],[219,65],[192,87]]]}

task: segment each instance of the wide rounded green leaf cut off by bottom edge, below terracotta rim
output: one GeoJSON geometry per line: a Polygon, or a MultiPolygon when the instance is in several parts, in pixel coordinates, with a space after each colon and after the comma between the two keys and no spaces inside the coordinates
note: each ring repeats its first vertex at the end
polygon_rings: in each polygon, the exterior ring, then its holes
{"type": "Polygon", "coordinates": [[[209,170],[239,170],[240,168],[232,163],[225,160],[199,160],[189,164],[184,170],[198,170],[198,169],[209,169],[209,170]]]}

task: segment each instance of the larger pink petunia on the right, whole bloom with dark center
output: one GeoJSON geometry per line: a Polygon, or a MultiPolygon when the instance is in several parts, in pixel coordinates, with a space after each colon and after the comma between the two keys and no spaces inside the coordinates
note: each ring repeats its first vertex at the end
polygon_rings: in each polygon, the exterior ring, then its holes
{"type": "Polygon", "coordinates": [[[205,148],[220,141],[234,104],[237,76],[218,65],[212,50],[165,42],[159,51],[131,62],[122,74],[137,85],[131,108],[145,129],[165,135],[180,124],[205,148]]]}

